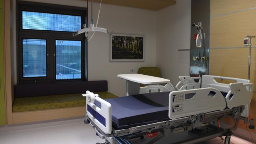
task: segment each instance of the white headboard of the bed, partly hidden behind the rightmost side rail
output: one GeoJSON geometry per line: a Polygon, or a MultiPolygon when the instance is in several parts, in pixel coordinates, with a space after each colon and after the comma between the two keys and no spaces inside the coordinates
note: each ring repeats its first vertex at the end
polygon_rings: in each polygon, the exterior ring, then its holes
{"type": "Polygon", "coordinates": [[[244,83],[244,84],[250,83],[250,80],[248,80],[248,79],[204,75],[204,76],[202,76],[202,88],[213,87],[215,89],[220,90],[221,92],[229,92],[229,90],[230,90],[229,84],[219,83],[215,79],[220,79],[221,81],[223,81],[223,80],[234,81],[234,83],[244,83]]]}

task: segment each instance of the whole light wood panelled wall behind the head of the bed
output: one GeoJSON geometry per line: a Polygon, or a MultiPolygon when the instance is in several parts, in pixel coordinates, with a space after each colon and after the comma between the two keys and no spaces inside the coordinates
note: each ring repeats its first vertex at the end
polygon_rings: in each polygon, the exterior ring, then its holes
{"type": "MultiPolygon", "coordinates": [[[[249,48],[243,46],[245,35],[256,35],[255,0],[211,0],[210,74],[247,79],[249,48]],[[251,8],[251,9],[250,9],[251,8]],[[236,12],[234,12],[236,11],[236,12]],[[231,12],[231,13],[230,13],[231,12]]],[[[256,119],[256,39],[252,39],[250,80],[254,93],[250,116],[256,119]]],[[[232,118],[224,122],[234,124],[232,118]]],[[[239,127],[246,129],[240,121],[239,127]]],[[[250,130],[256,133],[256,129],[250,130]]]]}

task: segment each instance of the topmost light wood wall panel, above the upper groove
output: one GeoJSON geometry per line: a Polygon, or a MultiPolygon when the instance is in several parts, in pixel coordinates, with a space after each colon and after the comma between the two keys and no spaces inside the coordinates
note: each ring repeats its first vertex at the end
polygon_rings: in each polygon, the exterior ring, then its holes
{"type": "Polygon", "coordinates": [[[211,16],[256,7],[255,0],[211,0],[211,16]]]}

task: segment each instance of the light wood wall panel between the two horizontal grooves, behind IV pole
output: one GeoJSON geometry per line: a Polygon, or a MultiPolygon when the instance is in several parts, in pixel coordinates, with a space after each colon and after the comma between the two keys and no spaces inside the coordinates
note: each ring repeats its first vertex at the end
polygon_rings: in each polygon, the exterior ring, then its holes
{"type": "MultiPolygon", "coordinates": [[[[256,9],[212,17],[210,48],[243,47],[245,35],[256,35],[255,24],[256,9]]],[[[256,40],[252,45],[256,46],[256,40]]]]}

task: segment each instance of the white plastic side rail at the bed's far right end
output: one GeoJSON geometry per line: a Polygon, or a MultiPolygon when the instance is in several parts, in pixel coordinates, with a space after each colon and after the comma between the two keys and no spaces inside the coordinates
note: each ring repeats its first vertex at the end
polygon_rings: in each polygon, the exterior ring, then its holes
{"type": "Polygon", "coordinates": [[[252,83],[230,83],[230,91],[226,95],[227,107],[232,109],[240,105],[245,105],[245,110],[241,116],[249,116],[249,105],[252,100],[253,84],[252,83]]]}

